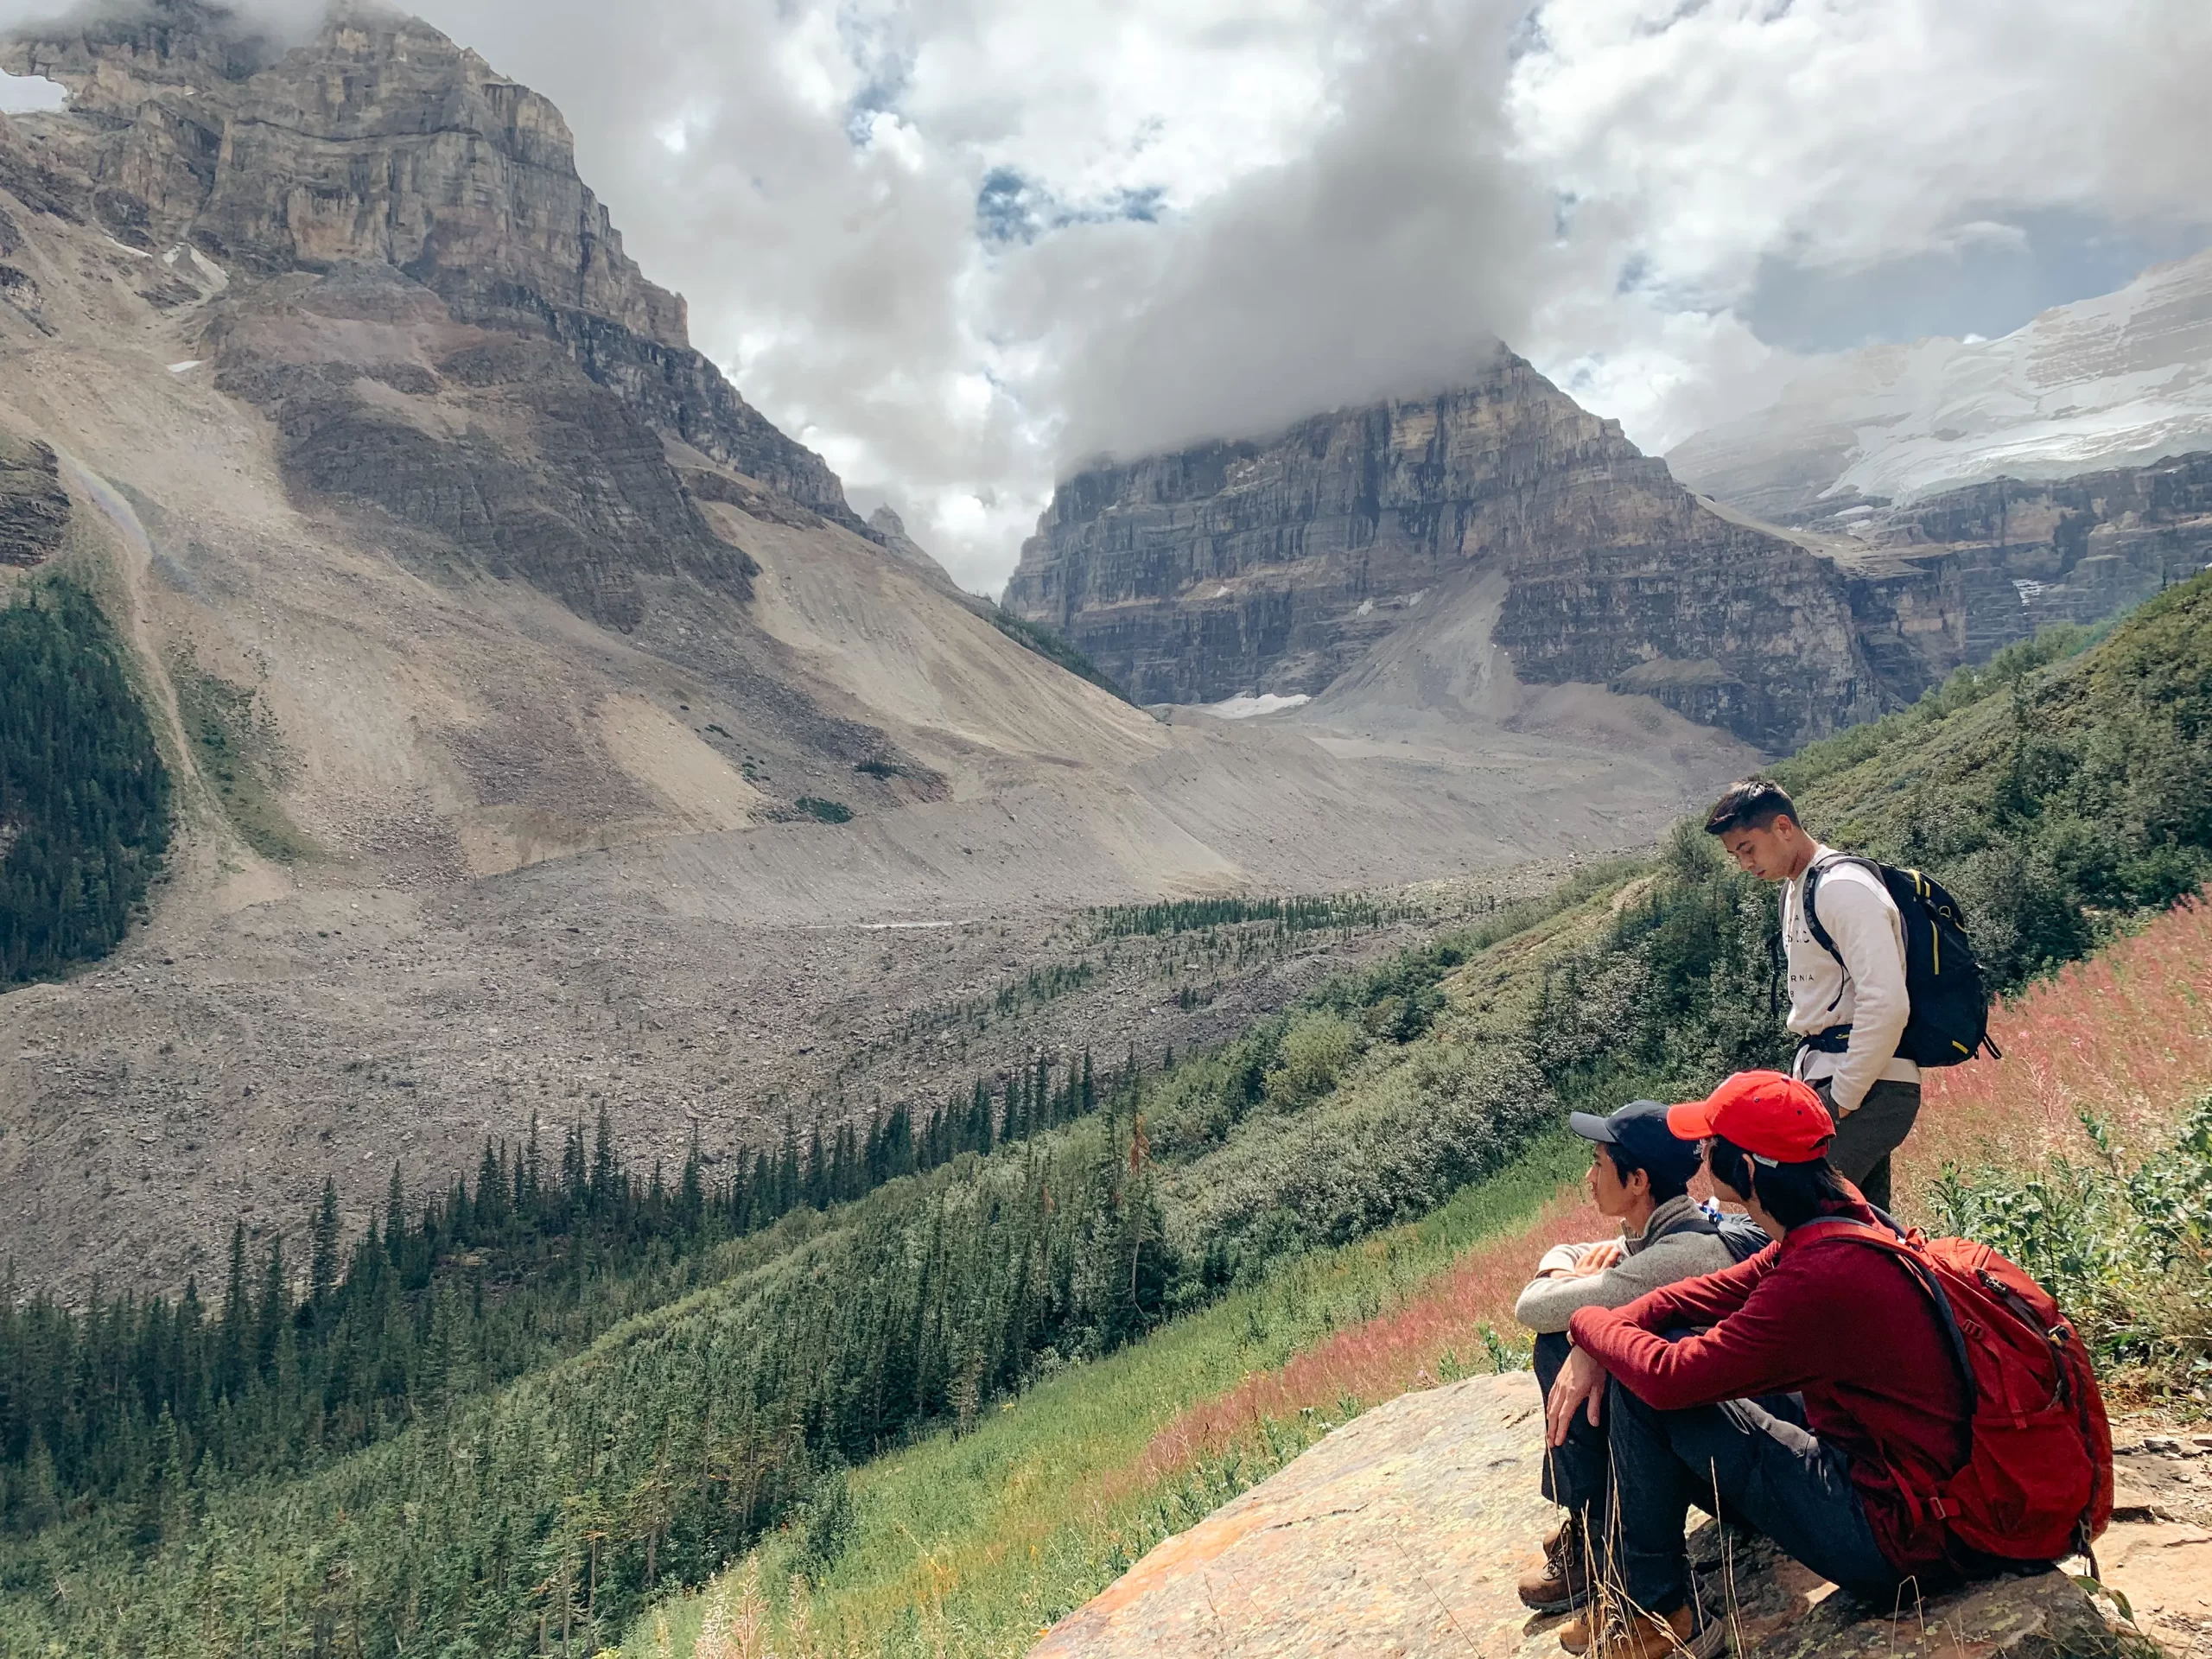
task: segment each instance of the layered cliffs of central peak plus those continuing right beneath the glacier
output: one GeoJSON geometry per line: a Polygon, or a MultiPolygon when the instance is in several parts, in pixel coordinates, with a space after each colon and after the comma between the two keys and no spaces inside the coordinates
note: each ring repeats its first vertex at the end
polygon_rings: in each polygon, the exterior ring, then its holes
{"type": "Polygon", "coordinates": [[[2208,562],[2212,456],[1778,529],[1502,356],[1460,392],[1079,473],[1006,606],[1139,701],[1206,703],[1345,684],[1502,577],[1486,641],[1522,681],[1644,692],[1787,750],[2208,562]]]}

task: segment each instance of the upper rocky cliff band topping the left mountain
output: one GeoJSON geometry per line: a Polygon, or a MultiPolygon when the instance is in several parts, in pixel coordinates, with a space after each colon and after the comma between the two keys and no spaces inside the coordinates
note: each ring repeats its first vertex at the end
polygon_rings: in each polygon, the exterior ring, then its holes
{"type": "Polygon", "coordinates": [[[40,137],[119,241],[252,279],[387,265],[458,323],[557,345],[650,429],[867,533],[836,476],[686,338],[577,179],[551,102],[429,24],[341,9],[276,55],[232,13],[155,0],[0,46],[71,88],[40,137]]]}

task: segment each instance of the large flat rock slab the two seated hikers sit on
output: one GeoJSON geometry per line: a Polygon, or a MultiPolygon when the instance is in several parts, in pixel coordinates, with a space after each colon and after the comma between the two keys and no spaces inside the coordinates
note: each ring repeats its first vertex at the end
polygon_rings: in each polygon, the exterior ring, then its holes
{"type": "MultiPolygon", "coordinates": [[[[1407,1394],[1166,1540],[1053,1626],[1031,1659],[1553,1659],[1564,1619],[1531,1617],[1513,1590],[1557,1522],[1537,1493],[1540,1464],[1542,1413],[1528,1374],[1407,1394]]],[[[2121,1650],[2064,1573],[1966,1586],[1889,1617],[1763,1540],[1723,1535],[1710,1522],[1690,1553],[1719,1626],[1699,1644],[1708,1652],[2055,1659],[2121,1650]]]]}

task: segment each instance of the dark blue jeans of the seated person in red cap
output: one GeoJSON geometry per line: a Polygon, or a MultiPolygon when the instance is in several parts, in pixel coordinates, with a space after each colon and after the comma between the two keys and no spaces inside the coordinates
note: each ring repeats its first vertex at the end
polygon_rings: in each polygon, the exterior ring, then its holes
{"type": "MultiPolygon", "coordinates": [[[[1781,1400],[1776,1400],[1781,1405],[1781,1400]]],[[[1889,1606],[1898,1573],[1874,1544],[1849,1460],[1752,1400],[1657,1411],[1606,1383],[1615,1573],[1646,1613],[1690,1599],[1690,1504],[1725,1511],[1863,1601],[1889,1606]]]]}

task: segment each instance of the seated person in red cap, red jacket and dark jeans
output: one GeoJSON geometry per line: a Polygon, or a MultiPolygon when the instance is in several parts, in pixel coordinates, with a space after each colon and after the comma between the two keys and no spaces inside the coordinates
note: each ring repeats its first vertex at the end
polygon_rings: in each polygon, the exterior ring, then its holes
{"type": "Polygon", "coordinates": [[[1916,1526],[1902,1498],[1969,1453],[1966,1385],[1929,1292],[1847,1239],[1790,1243],[1820,1217],[1876,1221],[1827,1164],[1836,1128],[1820,1097],[1781,1073],[1739,1073],[1710,1099],[1674,1106],[1668,1126],[1705,1139],[1714,1192],[1776,1243],[1568,1323],[1575,1352],[1546,1405],[1551,1442],[1604,1405],[1617,1495],[1613,1595],[1559,1641],[1584,1652],[1601,1639],[1608,1659],[1657,1659],[1692,1637],[1692,1502],[1725,1509],[1885,1610],[1913,1582],[1929,1588],[1966,1564],[1942,1522],[1916,1526]],[[1772,1396],[1785,1394],[1803,1396],[1803,1422],[1776,1413],[1772,1396]]]}

